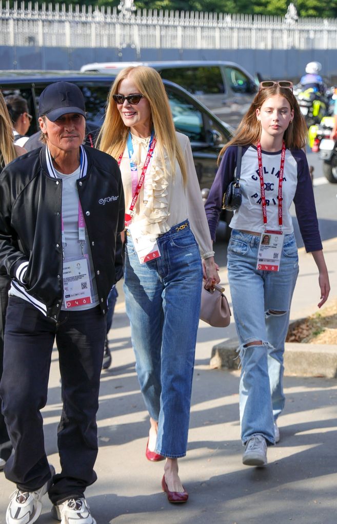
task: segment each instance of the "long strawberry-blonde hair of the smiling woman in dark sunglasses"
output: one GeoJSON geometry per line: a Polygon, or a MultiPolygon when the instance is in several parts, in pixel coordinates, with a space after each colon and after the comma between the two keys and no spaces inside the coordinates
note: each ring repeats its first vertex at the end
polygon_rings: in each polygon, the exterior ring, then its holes
{"type": "Polygon", "coordinates": [[[97,139],[97,146],[101,151],[108,153],[114,158],[123,153],[127,145],[129,127],[125,126],[112,95],[118,93],[119,84],[122,80],[131,78],[139,92],[148,100],[151,108],[152,124],[157,140],[156,148],[159,157],[164,161],[164,150],[170,162],[171,172],[175,173],[175,161],[180,166],[183,181],[186,182],[186,166],[183,152],[178,143],[170,104],[160,74],[151,67],[136,65],[123,69],[113,82],[107,102],[106,117],[97,139]]]}

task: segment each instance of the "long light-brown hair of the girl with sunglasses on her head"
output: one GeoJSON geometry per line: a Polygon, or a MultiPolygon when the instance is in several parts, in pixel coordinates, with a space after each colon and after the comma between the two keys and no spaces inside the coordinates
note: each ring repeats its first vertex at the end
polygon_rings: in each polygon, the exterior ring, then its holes
{"type": "Polygon", "coordinates": [[[256,110],[260,109],[262,104],[270,98],[270,96],[275,95],[283,96],[289,102],[290,108],[294,112],[292,123],[289,124],[283,135],[286,147],[288,149],[302,149],[306,145],[308,128],[292,90],[280,88],[278,84],[275,84],[271,88],[261,89],[257,95],[255,95],[247,113],[237,128],[235,136],[220,151],[218,163],[227,147],[237,144],[249,146],[258,143],[261,137],[261,123],[258,122],[256,118],[256,110]]]}

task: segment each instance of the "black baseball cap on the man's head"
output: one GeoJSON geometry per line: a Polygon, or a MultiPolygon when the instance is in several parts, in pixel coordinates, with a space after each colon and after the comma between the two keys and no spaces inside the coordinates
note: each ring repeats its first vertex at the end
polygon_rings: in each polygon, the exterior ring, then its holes
{"type": "Polygon", "coordinates": [[[39,114],[55,122],[67,113],[86,116],[86,106],[81,90],[70,82],[54,82],[47,85],[39,96],[39,114]]]}

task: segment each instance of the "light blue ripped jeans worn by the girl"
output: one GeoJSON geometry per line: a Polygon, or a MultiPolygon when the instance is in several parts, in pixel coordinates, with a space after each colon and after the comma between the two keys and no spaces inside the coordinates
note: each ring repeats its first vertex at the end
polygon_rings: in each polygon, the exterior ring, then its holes
{"type": "Polygon", "coordinates": [[[283,407],[283,353],[292,293],[298,275],[294,234],[285,235],[280,269],[256,269],[260,238],[233,230],[228,244],[228,280],[240,346],[240,423],[245,444],[262,435],[275,444],[273,422],[283,407]],[[262,345],[246,344],[261,341],[262,345]]]}

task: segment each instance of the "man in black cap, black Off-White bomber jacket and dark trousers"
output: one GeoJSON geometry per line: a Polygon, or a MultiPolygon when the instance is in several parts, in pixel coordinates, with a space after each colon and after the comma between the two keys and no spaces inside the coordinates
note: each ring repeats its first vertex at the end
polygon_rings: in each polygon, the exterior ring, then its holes
{"type": "Polygon", "coordinates": [[[94,524],[84,491],[97,478],[99,380],[117,263],[121,276],[124,195],[117,162],[82,146],[86,113],[76,85],[50,84],[39,113],[44,147],[0,177],[0,274],[12,279],[0,396],[15,450],[5,475],[17,486],[6,522],[35,522],[48,491],[62,524],[94,524]],[[55,339],[63,400],[56,475],[40,415],[55,339]]]}

